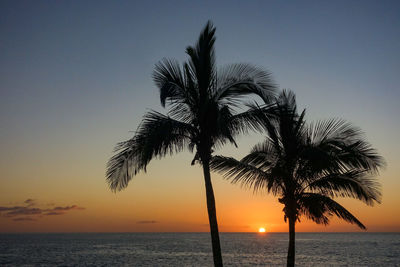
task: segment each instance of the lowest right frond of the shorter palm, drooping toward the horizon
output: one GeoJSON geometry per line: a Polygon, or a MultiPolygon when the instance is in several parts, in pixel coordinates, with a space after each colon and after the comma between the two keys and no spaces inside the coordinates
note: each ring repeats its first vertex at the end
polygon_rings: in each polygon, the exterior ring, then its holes
{"type": "Polygon", "coordinates": [[[299,197],[300,212],[317,224],[329,224],[329,217],[336,215],[351,224],[356,224],[361,229],[366,227],[342,205],[329,197],[315,194],[303,193],[299,197]]]}

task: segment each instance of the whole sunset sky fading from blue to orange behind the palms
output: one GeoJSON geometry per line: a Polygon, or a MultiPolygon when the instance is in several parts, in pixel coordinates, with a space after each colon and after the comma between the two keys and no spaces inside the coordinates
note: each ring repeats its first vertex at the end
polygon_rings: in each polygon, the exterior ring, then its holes
{"type": "MultiPolygon", "coordinates": [[[[105,168],[145,112],[151,74],[187,59],[207,20],[217,64],[252,63],[293,90],[307,120],[344,118],[386,159],[382,204],[338,199],[368,231],[400,231],[398,1],[0,1],[0,232],[205,232],[200,166],[154,160],[113,193],[105,168]]],[[[241,158],[261,135],[217,154],[241,158]]],[[[266,193],[212,174],[222,232],[285,232],[266,193]]],[[[298,231],[358,231],[303,218],[298,231]]]]}

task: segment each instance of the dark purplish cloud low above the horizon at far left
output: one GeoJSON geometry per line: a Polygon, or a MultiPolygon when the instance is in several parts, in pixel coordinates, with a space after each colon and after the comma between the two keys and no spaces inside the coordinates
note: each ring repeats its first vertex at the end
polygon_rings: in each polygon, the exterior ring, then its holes
{"type": "Polygon", "coordinates": [[[12,218],[13,221],[36,221],[36,219],[51,215],[64,215],[71,210],[84,210],[85,208],[79,207],[78,205],[71,206],[57,206],[54,208],[40,208],[35,207],[36,201],[34,199],[28,198],[23,202],[24,206],[13,206],[5,207],[0,206],[0,215],[6,218],[12,218]],[[25,217],[19,217],[25,216],[25,217]],[[28,217],[26,217],[28,216],[28,217]]]}

